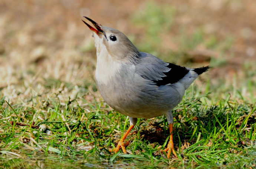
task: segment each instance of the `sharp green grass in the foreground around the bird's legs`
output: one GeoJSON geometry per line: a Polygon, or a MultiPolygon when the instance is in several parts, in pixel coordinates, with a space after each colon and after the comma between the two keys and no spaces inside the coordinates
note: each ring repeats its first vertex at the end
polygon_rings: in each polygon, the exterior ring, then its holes
{"type": "Polygon", "coordinates": [[[81,96],[74,100],[67,97],[66,102],[60,102],[58,97],[38,102],[41,97],[44,95],[31,98],[32,106],[10,105],[1,97],[1,167],[255,168],[256,165],[256,108],[246,100],[227,98],[212,103],[210,93],[203,94],[194,85],[190,87],[173,110],[178,158],[168,160],[165,153],[160,153],[168,142],[164,116],[138,120],[127,139],[128,154],[120,151],[112,155],[108,149],[128,129],[127,117],[96,97],[90,103],[81,96]],[[33,128],[43,124],[46,130],[33,128]],[[31,160],[35,163],[28,162],[31,160]]]}

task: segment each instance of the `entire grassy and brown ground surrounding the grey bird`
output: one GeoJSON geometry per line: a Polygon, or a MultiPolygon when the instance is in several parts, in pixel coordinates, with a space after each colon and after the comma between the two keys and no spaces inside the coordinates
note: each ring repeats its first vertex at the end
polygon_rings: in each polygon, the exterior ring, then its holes
{"type": "Polygon", "coordinates": [[[253,0],[0,0],[0,167],[255,168],[255,9],[253,0]],[[210,64],[173,110],[178,158],[160,152],[164,116],[137,122],[128,155],[109,153],[129,120],[97,90],[82,16],[166,62],[210,64]]]}

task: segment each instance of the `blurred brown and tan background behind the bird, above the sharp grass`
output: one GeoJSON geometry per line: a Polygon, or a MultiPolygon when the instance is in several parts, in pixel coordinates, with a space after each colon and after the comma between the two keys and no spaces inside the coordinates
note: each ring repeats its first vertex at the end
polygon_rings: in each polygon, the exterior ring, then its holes
{"type": "Polygon", "coordinates": [[[255,9],[255,0],[0,0],[0,98],[98,95],[88,16],[166,62],[210,64],[195,82],[202,91],[254,102],[255,9]]]}

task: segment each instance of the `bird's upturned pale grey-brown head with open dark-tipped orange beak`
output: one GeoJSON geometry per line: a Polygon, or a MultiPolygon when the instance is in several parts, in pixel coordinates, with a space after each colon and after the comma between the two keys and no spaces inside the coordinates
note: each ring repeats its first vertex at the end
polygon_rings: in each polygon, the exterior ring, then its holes
{"type": "Polygon", "coordinates": [[[112,59],[122,62],[132,61],[140,56],[138,49],[125,34],[114,28],[102,26],[88,17],[85,18],[91,21],[96,28],[82,20],[93,31],[97,56],[109,54],[112,59]]]}

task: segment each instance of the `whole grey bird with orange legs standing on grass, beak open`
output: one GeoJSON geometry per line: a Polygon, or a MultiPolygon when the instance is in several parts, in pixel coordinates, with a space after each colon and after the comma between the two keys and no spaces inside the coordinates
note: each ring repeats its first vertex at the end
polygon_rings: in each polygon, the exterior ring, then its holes
{"type": "MultiPolygon", "coordinates": [[[[120,148],[124,153],[124,140],[136,125],[138,118],[150,119],[165,115],[170,129],[167,158],[177,153],[173,143],[172,109],[181,102],[185,90],[210,66],[187,68],[164,62],[158,57],[140,52],[120,32],[102,26],[84,16],[93,26],[82,20],[92,30],[96,47],[96,84],[104,101],[119,113],[129,116],[130,126],[112,152],[120,148]]],[[[111,150],[110,150],[111,151],[111,150]]]]}

